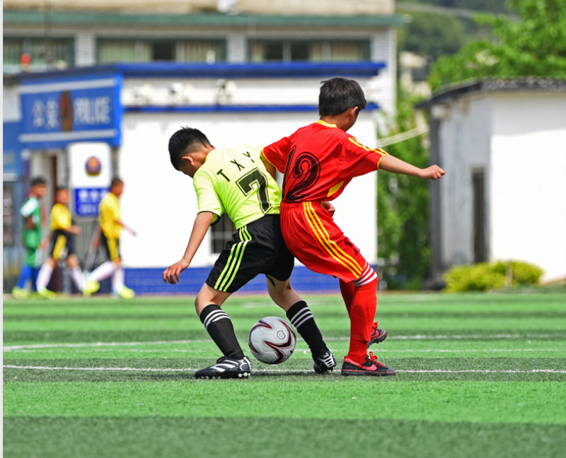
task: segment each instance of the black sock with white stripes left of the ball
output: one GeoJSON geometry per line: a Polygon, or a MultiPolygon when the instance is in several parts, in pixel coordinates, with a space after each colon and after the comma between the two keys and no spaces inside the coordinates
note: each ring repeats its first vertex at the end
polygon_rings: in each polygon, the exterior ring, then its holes
{"type": "Polygon", "coordinates": [[[207,305],[200,312],[200,321],[224,356],[243,358],[242,347],[236,338],[232,320],[221,307],[216,304],[207,305]]]}

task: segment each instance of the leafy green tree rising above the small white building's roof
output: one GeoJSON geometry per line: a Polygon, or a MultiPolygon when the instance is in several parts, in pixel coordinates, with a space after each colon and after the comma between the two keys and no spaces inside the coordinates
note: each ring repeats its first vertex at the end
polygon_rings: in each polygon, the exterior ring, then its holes
{"type": "Polygon", "coordinates": [[[566,78],[566,1],[509,0],[521,20],[481,14],[496,41],[470,42],[458,54],[437,59],[432,89],[469,78],[547,76],[566,78]]]}

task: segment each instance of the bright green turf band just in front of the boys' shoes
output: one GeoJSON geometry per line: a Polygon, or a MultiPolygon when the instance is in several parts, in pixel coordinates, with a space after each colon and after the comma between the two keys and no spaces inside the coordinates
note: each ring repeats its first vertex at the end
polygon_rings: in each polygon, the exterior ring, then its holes
{"type": "Polygon", "coordinates": [[[6,416],[395,419],[566,424],[560,382],[175,380],[4,385],[6,416]],[[243,415],[245,413],[245,415],[243,415]]]}

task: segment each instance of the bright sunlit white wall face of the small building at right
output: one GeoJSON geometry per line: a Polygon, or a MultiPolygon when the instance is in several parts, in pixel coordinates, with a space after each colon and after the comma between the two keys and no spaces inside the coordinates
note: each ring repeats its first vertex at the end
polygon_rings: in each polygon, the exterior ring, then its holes
{"type": "Polygon", "coordinates": [[[492,259],[566,276],[566,94],[497,95],[492,147],[492,259]]]}

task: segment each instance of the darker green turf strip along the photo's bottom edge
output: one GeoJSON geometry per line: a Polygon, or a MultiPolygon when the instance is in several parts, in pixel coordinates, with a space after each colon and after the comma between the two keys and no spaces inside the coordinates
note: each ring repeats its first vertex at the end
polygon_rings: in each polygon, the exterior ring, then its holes
{"type": "Polygon", "coordinates": [[[4,456],[502,458],[564,456],[563,425],[400,420],[16,417],[4,456]]]}

